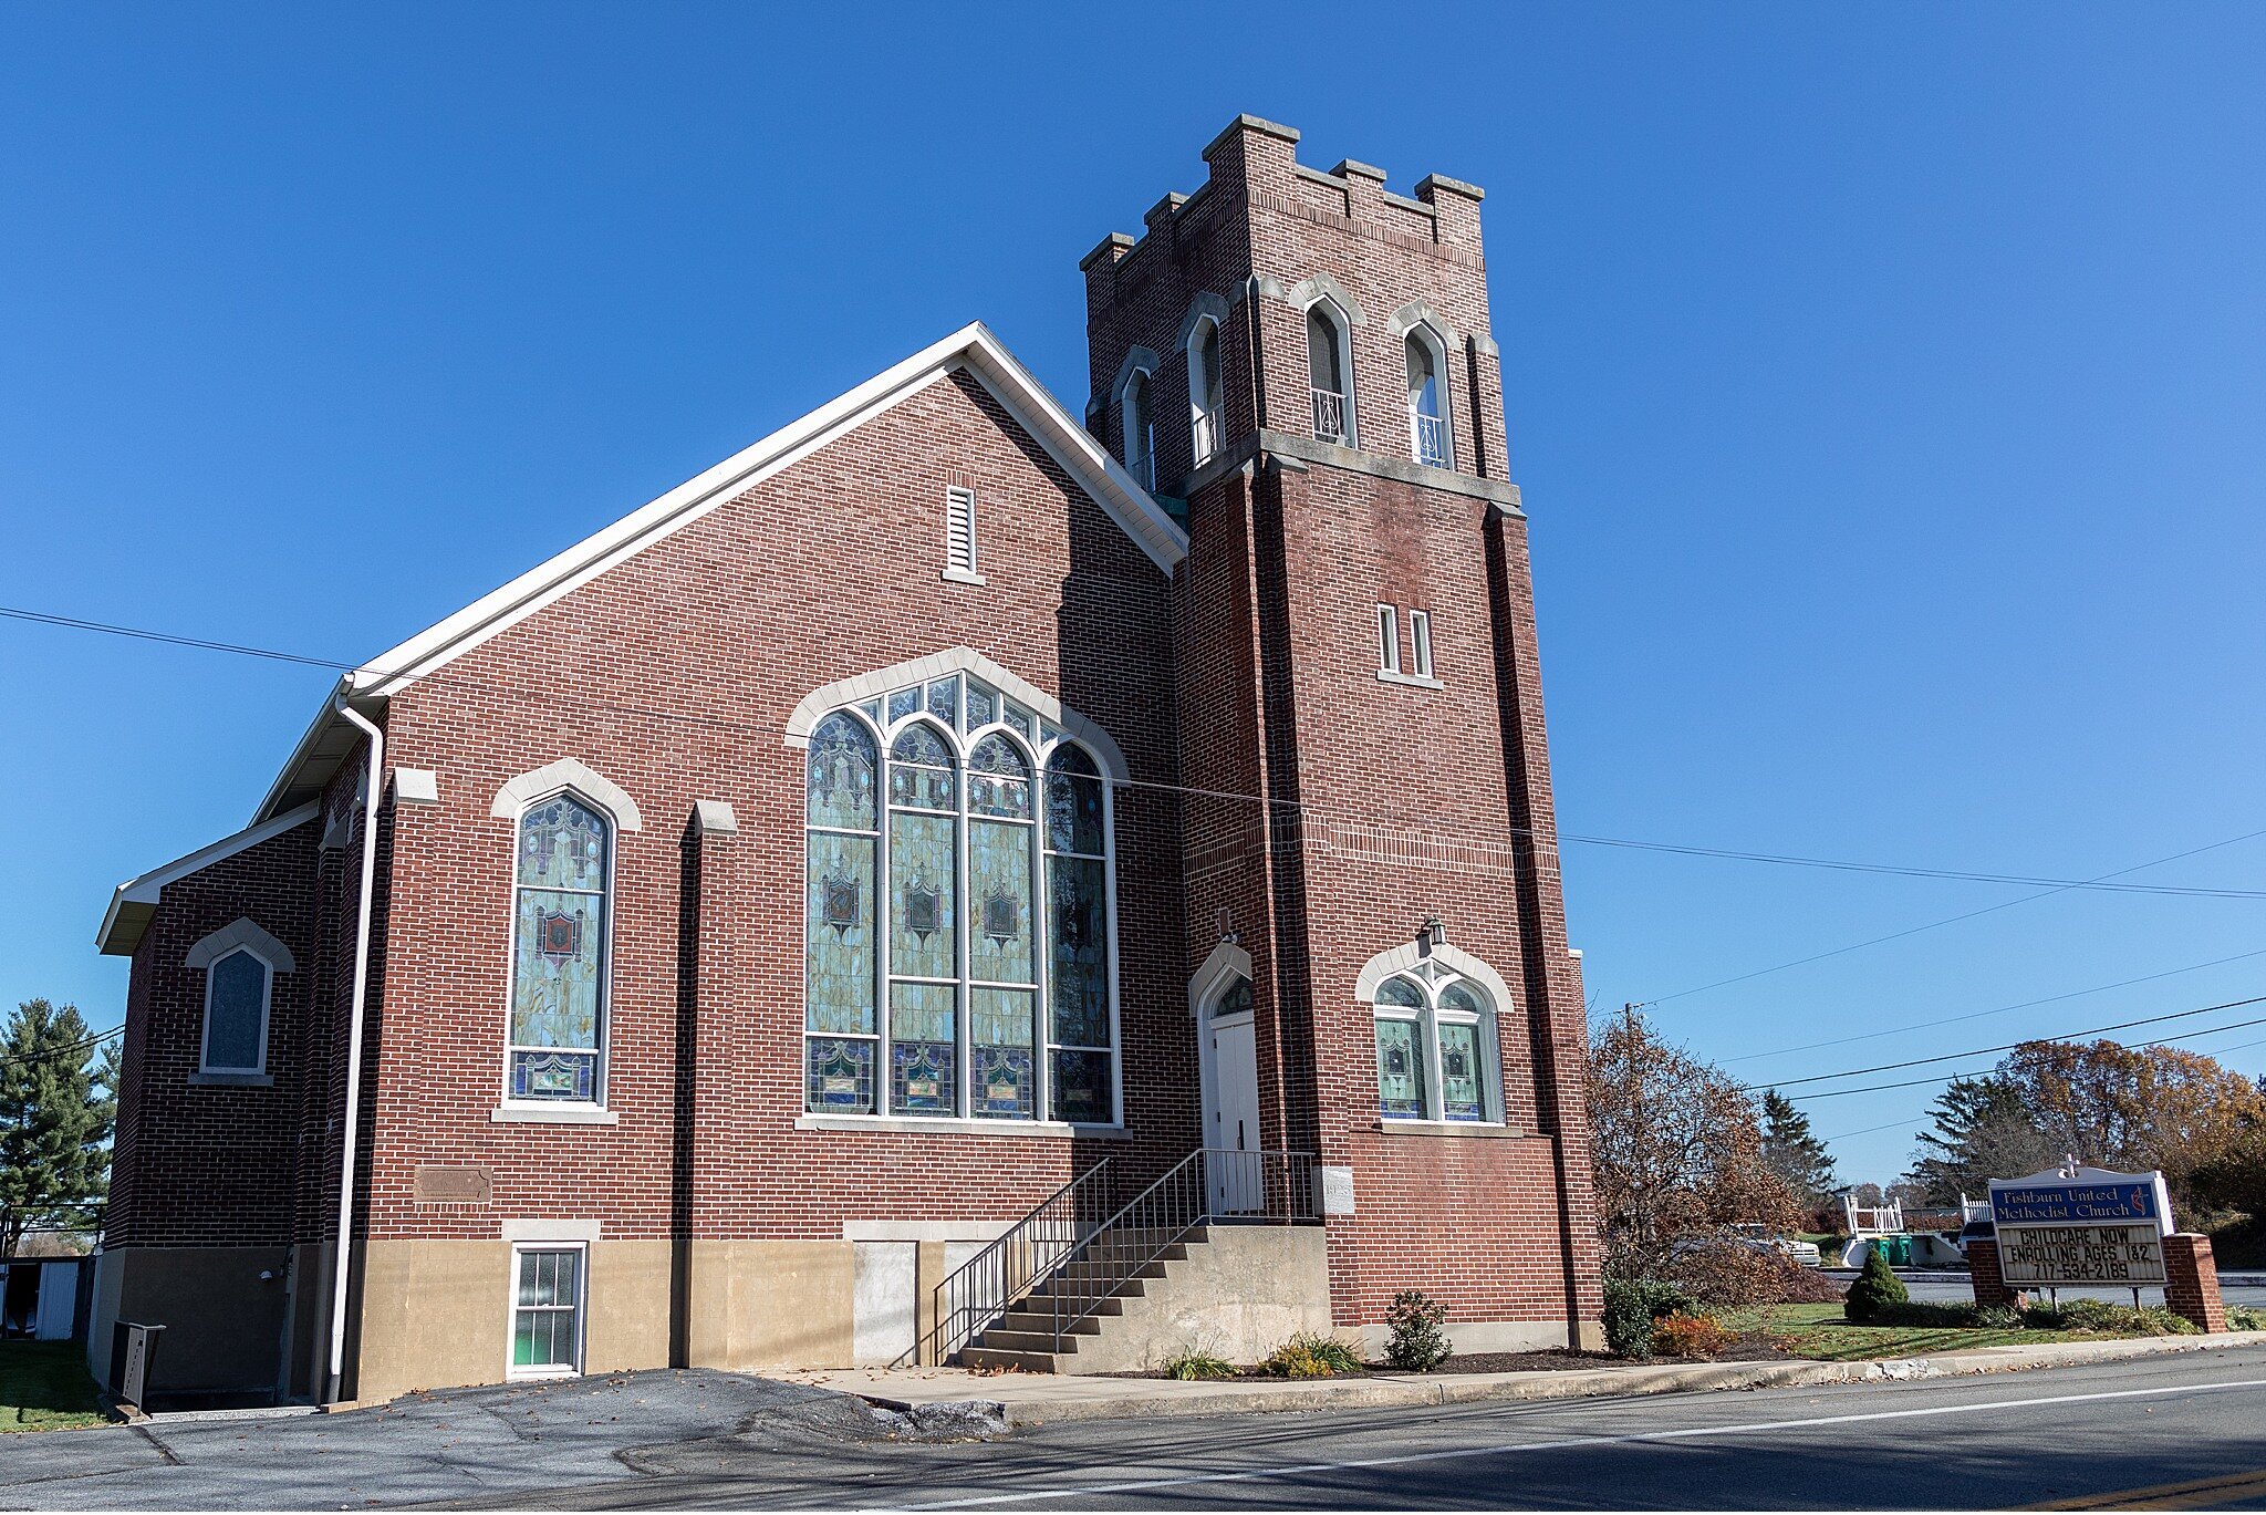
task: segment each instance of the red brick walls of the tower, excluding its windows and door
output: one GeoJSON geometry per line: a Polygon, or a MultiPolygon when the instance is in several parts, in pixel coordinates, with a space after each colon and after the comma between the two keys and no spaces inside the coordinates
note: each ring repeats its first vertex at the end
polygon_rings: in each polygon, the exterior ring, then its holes
{"type": "MultiPolygon", "coordinates": [[[[1199,290],[1237,299],[1330,274],[1353,329],[1362,449],[1407,463],[1405,358],[1391,315],[1423,299],[1462,352],[1450,372],[1455,463],[1507,479],[1486,340],[1477,200],[1446,186],[1412,206],[1362,172],[1319,179],[1287,138],[1240,127],[1210,181],[1147,218],[1133,249],[1088,259],[1097,433],[1122,454],[1113,381],[1140,345],[1156,376],[1158,476],[1187,469],[1178,331],[1199,290]]],[[[1303,315],[1273,293],[1221,331],[1228,449],[1255,424],[1312,435],[1303,315]],[[1258,374],[1251,327],[1258,324],[1258,374]]],[[[1253,955],[1267,1143],[1355,1170],[1332,1222],[1337,1313],[1375,1322],[1398,1288],[1459,1320],[1595,1318],[1588,1066],[1579,964],[1566,943],[1525,517],[1378,467],[1260,456],[1190,499],[1181,574],[1187,971],[1235,930],[1253,955]],[[1432,617],[1441,689],[1375,678],[1375,606],[1432,617]],[[1255,796],[1255,798],[1221,798],[1255,796]],[[1486,959],[1500,1007],[1505,1114],[1525,1136],[1387,1134],[1371,1012],[1355,977],[1425,916],[1486,959]]]]}

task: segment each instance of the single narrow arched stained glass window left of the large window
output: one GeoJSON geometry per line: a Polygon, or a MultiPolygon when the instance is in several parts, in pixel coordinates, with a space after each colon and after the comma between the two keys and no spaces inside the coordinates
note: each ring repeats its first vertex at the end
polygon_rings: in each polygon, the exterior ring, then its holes
{"type": "Polygon", "coordinates": [[[505,1084],[514,1100],[598,1098],[610,848],[612,826],[573,794],[519,816],[505,1084]]]}

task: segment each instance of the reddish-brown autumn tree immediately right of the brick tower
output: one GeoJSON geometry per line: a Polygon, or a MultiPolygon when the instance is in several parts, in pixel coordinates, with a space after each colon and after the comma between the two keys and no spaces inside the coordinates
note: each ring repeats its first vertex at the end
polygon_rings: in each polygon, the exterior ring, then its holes
{"type": "Polygon", "coordinates": [[[1799,1204],[1763,1161],[1763,1111],[1722,1068],[1643,1016],[1591,1039],[1588,1114],[1607,1270],[1659,1275],[1681,1241],[1733,1225],[1792,1229],[1799,1204]]]}

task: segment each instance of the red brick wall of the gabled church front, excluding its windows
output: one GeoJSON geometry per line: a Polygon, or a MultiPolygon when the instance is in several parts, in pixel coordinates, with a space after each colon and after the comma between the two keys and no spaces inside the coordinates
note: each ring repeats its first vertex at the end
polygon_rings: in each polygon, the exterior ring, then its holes
{"type": "Polygon", "coordinates": [[[1104,726],[1138,780],[1169,785],[1169,578],[956,374],[394,696],[390,762],[435,769],[442,803],[392,821],[369,1234],[492,1236],[496,1216],[589,1216],[607,1236],[666,1236],[687,1202],[680,1077],[698,1111],[689,1207],[702,1236],[1011,1218],[1099,1157],[1158,1168],[1194,1145],[1178,803],[1153,787],[1115,796],[1138,1141],[795,1129],[804,764],[782,739],[795,703],[968,644],[1104,726]],[[947,469],[974,479],[983,587],[938,581],[947,469]],[[569,755],[644,814],[616,853],[619,1125],[499,1125],[514,832],[489,801],[569,755]],[[732,803],[741,835],[709,848],[689,921],[684,826],[702,798],[732,803]],[[487,1166],[492,1209],[419,1207],[419,1163],[487,1166]]]}

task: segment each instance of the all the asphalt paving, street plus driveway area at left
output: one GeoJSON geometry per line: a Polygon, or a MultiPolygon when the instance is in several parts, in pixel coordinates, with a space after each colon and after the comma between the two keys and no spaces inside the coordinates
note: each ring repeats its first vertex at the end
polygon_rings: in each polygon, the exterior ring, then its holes
{"type": "MultiPolygon", "coordinates": [[[[0,1438],[0,1508],[1994,1508],[2203,1481],[2266,1510],[2266,1347],[2048,1372],[879,1440],[730,1374],[0,1438]]],[[[2173,1495],[2178,1501],[2180,1495],[2173,1495]]]]}

